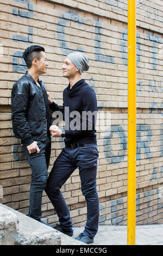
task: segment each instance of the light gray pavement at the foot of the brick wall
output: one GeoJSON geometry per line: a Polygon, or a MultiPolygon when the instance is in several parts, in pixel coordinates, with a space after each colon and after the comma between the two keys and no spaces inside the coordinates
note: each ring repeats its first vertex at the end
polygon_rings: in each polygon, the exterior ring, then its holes
{"type": "MultiPolygon", "coordinates": [[[[74,227],[73,237],[83,227],[74,227]]],[[[93,245],[127,245],[126,225],[99,225],[93,245]]],[[[163,224],[136,225],[136,245],[163,245],[163,224]]]]}

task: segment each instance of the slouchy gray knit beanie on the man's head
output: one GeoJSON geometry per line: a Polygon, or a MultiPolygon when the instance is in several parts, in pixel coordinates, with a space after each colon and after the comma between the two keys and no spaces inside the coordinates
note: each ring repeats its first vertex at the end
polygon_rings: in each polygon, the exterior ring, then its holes
{"type": "Polygon", "coordinates": [[[83,52],[72,52],[67,57],[71,59],[81,75],[83,71],[89,70],[89,59],[83,52]]]}

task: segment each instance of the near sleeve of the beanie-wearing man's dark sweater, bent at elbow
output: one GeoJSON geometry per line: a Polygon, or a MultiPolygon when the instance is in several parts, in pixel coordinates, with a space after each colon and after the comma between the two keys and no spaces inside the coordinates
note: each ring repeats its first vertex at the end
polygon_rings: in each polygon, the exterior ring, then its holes
{"type": "MultiPolygon", "coordinates": [[[[81,118],[81,117],[80,117],[81,118]]],[[[79,120],[79,129],[66,130],[66,138],[88,135],[96,130],[97,99],[94,90],[87,90],[83,96],[82,121],[79,120]]]]}

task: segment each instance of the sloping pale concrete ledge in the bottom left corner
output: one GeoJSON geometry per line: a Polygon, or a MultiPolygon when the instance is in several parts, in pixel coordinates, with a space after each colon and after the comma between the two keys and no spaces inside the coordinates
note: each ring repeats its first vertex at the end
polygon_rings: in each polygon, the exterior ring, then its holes
{"type": "Polygon", "coordinates": [[[86,245],[0,204],[0,245],[86,245]]]}

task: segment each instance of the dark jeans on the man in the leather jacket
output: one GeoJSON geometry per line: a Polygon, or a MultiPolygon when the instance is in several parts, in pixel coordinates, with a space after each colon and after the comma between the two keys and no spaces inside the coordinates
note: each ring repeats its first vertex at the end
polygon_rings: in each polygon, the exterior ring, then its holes
{"type": "Polygon", "coordinates": [[[51,138],[47,141],[37,141],[40,153],[37,152],[29,154],[26,145],[22,144],[24,153],[27,156],[28,163],[32,169],[32,184],[30,186],[29,194],[29,217],[37,221],[41,221],[41,202],[42,192],[45,190],[48,165],[51,156],[51,138]]]}

